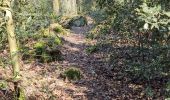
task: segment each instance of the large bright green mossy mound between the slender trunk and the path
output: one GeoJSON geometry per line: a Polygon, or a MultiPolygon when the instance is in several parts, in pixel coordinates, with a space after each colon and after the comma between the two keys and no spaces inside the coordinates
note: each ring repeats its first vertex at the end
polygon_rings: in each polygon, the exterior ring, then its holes
{"type": "Polygon", "coordinates": [[[35,58],[40,62],[61,61],[62,53],[56,47],[61,44],[59,37],[49,37],[35,43],[35,58]]]}

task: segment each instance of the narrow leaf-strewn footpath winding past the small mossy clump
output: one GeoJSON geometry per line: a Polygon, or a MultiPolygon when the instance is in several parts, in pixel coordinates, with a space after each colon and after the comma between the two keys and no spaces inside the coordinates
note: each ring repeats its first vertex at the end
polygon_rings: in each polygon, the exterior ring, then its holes
{"type": "Polygon", "coordinates": [[[111,85],[114,81],[102,76],[104,73],[109,73],[105,68],[108,65],[104,61],[103,54],[86,52],[88,46],[95,44],[95,40],[86,39],[86,32],[90,29],[91,26],[72,27],[70,34],[60,36],[64,40],[61,51],[65,60],[59,65],[62,68],[76,67],[83,74],[81,80],[73,82],[71,86],[76,88],[74,92],[69,93],[72,94],[73,100],[111,100],[114,95],[111,85]]]}

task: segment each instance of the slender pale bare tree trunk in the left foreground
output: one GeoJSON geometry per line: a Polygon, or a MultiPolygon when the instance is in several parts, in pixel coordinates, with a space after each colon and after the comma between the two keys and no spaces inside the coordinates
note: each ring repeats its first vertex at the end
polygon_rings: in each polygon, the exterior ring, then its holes
{"type": "MultiPolygon", "coordinates": [[[[14,2],[14,0],[13,0],[14,2]]],[[[9,49],[11,62],[13,67],[13,80],[14,89],[15,89],[15,98],[16,100],[25,100],[25,94],[21,87],[19,87],[20,81],[20,62],[19,62],[19,53],[17,48],[14,22],[12,18],[12,10],[11,10],[11,0],[4,0],[1,10],[5,12],[6,19],[6,31],[8,35],[9,49]]]]}

